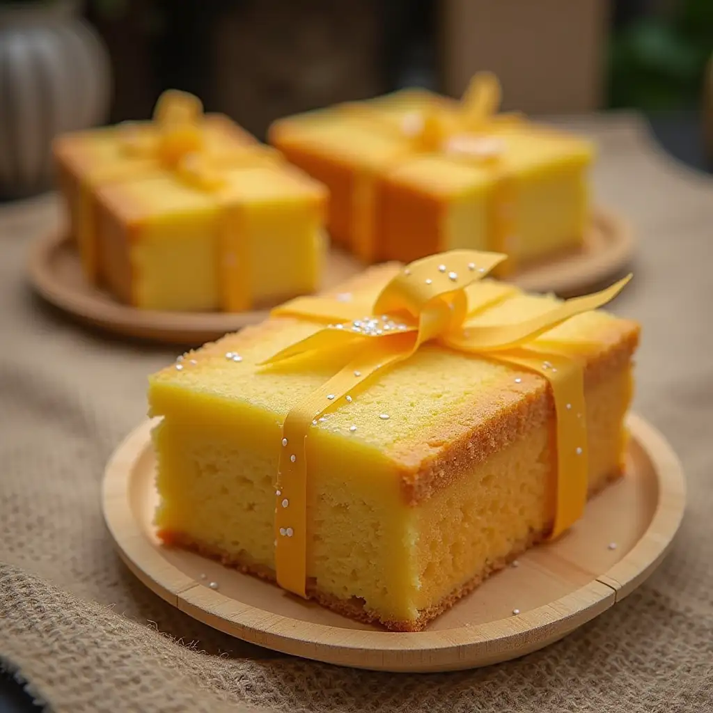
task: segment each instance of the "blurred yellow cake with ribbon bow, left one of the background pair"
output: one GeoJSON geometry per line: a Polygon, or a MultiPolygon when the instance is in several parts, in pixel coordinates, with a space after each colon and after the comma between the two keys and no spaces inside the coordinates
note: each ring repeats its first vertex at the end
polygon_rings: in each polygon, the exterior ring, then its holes
{"type": "Polygon", "coordinates": [[[239,312],[317,289],[326,190],[198,98],[53,149],[84,275],[122,302],[239,312]]]}

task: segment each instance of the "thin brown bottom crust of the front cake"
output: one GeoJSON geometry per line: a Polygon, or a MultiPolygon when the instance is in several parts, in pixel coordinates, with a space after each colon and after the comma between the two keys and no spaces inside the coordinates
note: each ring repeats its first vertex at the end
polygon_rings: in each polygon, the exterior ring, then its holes
{"type": "MultiPolygon", "coordinates": [[[[588,497],[591,498],[600,491],[604,490],[606,486],[620,478],[622,473],[622,469],[617,468],[616,471],[610,473],[607,478],[600,483],[598,488],[595,490],[590,489],[588,497]]],[[[443,597],[440,601],[436,602],[436,604],[426,607],[426,609],[419,610],[419,617],[415,620],[384,620],[378,613],[367,609],[364,600],[358,597],[340,599],[333,594],[322,592],[317,588],[314,580],[307,581],[307,598],[318,602],[320,605],[332,610],[333,612],[337,612],[337,614],[349,617],[349,619],[364,622],[364,624],[379,623],[387,630],[394,632],[423,631],[431,621],[443,614],[443,612],[448,611],[462,597],[470,594],[491,574],[505,568],[513,560],[517,559],[519,555],[525,552],[525,550],[528,550],[530,547],[533,547],[533,545],[540,543],[545,538],[545,533],[548,532],[548,528],[544,528],[543,530],[536,532],[530,531],[526,538],[513,545],[513,548],[508,555],[506,555],[506,557],[499,558],[498,560],[488,563],[488,565],[473,578],[453,589],[450,594],[443,597]]],[[[158,535],[161,540],[163,540],[165,545],[191,550],[199,555],[202,555],[203,557],[218,560],[221,564],[226,565],[227,567],[235,568],[240,570],[242,573],[254,575],[277,585],[275,570],[272,570],[265,565],[249,563],[245,556],[227,553],[224,550],[220,550],[220,548],[214,548],[210,545],[206,545],[205,543],[200,543],[183,533],[161,531],[158,535]]]]}

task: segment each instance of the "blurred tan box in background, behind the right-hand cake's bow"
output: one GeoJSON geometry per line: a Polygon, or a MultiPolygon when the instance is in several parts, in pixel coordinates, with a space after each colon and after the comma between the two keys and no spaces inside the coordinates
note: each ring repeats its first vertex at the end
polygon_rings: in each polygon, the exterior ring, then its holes
{"type": "Polygon", "coordinates": [[[498,75],[503,109],[578,113],[604,100],[608,0],[441,0],[441,89],[498,75]]]}

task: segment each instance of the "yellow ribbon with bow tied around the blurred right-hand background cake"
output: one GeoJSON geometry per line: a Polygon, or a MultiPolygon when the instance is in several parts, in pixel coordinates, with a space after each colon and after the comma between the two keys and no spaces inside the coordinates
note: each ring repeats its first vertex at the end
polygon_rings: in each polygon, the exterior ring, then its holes
{"type": "MultiPolygon", "coordinates": [[[[496,250],[507,250],[513,235],[511,180],[503,167],[504,145],[495,129],[522,123],[518,113],[498,114],[501,103],[501,86],[498,78],[489,72],[473,76],[455,110],[448,111],[442,103],[433,102],[426,108],[406,114],[401,125],[363,104],[350,103],[345,107],[354,116],[361,116],[372,127],[406,139],[404,150],[391,156],[389,169],[394,162],[408,160],[414,155],[436,153],[448,160],[483,165],[493,173],[493,196],[490,223],[492,244],[496,250]]],[[[374,261],[376,255],[376,189],[381,168],[362,169],[354,181],[353,228],[354,252],[362,260],[374,261]]],[[[436,248],[437,250],[439,248],[436,248]]],[[[508,251],[509,252],[509,251],[508,251]]],[[[515,265],[511,256],[508,272],[515,265]]]]}

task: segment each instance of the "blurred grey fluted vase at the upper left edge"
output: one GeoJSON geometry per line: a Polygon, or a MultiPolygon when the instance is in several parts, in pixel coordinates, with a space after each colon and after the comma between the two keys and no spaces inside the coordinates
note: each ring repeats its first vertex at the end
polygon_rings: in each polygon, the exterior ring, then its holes
{"type": "Polygon", "coordinates": [[[0,196],[51,185],[51,140],[106,120],[108,53],[75,0],[0,2],[0,196]]]}

